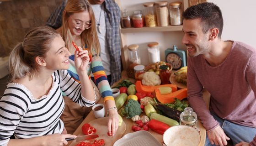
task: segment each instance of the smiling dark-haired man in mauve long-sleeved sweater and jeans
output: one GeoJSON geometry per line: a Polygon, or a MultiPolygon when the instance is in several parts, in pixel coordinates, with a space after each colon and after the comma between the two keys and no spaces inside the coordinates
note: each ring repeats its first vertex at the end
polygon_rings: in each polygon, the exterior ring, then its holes
{"type": "Polygon", "coordinates": [[[207,130],[205,146],[256,146],[256,50],[223,41],[223,17],[213,3],[185,10],[182,43],[187,46],[188,101],[207,130]],[[209,110],[203,88],[211,94],[209,110]]]}

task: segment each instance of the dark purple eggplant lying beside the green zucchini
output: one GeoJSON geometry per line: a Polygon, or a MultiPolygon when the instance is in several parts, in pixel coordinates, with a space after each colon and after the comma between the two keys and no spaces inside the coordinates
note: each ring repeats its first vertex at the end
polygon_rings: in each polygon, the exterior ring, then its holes
{"type": "Polygon", "coordinates": [[[156,108],[158,110],[160,110],[165,116],[173,119],[173,120],[176,120],[176,121],[180,121],[180,115],[181,115],[181,112],[179,110],[176,110],[176,109],[173,109],[165,104],[156,104],[155,105],[156,108]]]}

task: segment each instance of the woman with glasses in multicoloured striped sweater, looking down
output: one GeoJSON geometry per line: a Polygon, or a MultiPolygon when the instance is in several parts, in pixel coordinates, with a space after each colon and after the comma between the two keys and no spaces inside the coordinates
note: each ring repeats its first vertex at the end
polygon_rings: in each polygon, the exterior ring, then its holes
{"type": "MultiPolygon", "coordinates": [[[[71,53],[75,52],[72,41],[89,51],[90,63],[87,73],[88,75],[92,73],[94,76],[93,79],[100,90],[108,111],[108,131],[114,135],[118,128],[119,118],[112,90],[104,72],[104,64],[101,62],[101,57],[99,57],[101,47],[96,33],[96,20],[93,10],[87,0],[68,0],[62,16],[63,25],[59,32],[69,51],[71,53]]],[[[69,57],[69,61],[74,64],[74,55],[69,57]]],[[[70,65],[68,71],[79,82],[80,79],[75,72],[74,65],[70,65]]],[[[76,105],[69,97],[65,97],[64,100],[65,110],[61,119],[64,121],[68,133],[73,133],[91,109],[76,105]]]]}

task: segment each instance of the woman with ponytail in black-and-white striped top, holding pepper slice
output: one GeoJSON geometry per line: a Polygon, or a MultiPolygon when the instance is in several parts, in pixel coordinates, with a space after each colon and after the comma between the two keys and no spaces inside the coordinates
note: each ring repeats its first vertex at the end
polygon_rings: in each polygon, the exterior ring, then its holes
{"type": "Polygon", "coordinates": [[[63,146],[67,134],[59,119],[64,110],[61,90],[81,106],[95,104],[88,75],[88,51],[75,52],[80,83],[69,75],[70,52],[53,28],[39,26],[16,45],[9,59],[11,83],[0,100],[1,146],[63,146]],[[10,139],[14,135],[16,139],[10,139]]]}

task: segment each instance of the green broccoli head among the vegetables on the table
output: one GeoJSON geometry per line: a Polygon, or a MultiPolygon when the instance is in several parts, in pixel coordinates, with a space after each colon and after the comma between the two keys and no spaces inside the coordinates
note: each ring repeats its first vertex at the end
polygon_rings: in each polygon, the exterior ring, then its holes
{"type": "Polygon", "coordinates": [[[121,115],[127,115],[126,118],[132,118],[135,115],[140,115],[142,110],[140,109],[140,104],[138,101],[129,99],[127,104],[121,110],[121,115]]]}

